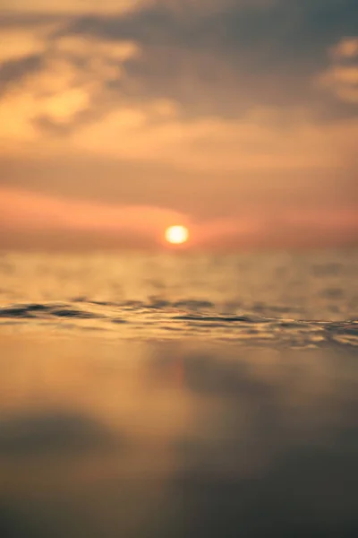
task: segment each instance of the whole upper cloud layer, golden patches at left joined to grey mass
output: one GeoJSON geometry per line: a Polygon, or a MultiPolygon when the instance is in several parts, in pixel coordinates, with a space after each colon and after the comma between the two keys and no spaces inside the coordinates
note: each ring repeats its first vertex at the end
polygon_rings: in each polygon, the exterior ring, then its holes
{"type": "MultiPolygon", "coordinates": [[[[280,1],[149,1],[107,16],[109,4],[97,14],[68,15],[57,27],[7,30],[11,46],[5,39],[0,49],[3,108],[14,113],[14,125],[23,123],[20,111],[28,115],[25,139],[41,129],[72,132],[107,115],[132,126],[152,103],[168,103],[183,129],[188,117],[240,119],[257,108],[281,108],[293,122],[302,112],[353,114],[354,67],[322,75],[342,29],[354,27],[352,0],[300,7],[280,1]],[[349,78],[350,84],[332,91],[338,97],[333,102],[322,84],[312,82],[317,76],[332,85],[349,78]]],[[[10,136],[19,131],[14,127],[10,136]]]]}

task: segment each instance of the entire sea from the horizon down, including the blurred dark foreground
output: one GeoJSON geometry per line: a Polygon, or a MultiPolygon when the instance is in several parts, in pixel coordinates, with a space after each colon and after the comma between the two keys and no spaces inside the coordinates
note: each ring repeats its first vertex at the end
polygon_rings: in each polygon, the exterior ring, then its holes
{"type": "Polygon", "coordinates": [[[358,536],[358,251],[0,254],[0,536],[358,536]]]}

